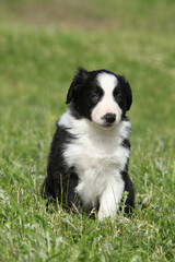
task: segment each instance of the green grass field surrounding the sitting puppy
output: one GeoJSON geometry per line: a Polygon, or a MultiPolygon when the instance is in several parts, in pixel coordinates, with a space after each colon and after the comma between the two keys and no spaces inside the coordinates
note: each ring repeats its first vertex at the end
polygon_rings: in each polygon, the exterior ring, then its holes
{"type": "Polygon", "coordinates": [[[0,1],[0,261],[175,261],[174,11],[173,0],[0,1]],[[132,87],[129,221],[46,212],[39,194],[79,66],[132,87]]]}

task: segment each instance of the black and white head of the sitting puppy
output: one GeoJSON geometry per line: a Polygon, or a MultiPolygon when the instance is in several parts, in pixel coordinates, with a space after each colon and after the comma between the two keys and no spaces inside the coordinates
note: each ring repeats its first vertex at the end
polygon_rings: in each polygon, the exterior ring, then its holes
{"type": "Polygon", "coordinates": [[[116,126],[131,103],[129,83],[107,70],[89,72],[80,68],[67,95],[74,117],[88,118],[104,128],[116,126]]]}

